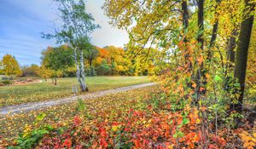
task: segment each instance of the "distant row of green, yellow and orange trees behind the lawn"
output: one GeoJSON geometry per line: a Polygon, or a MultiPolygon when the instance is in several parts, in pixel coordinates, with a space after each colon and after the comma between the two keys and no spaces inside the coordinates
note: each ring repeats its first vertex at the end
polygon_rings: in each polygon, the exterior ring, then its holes
{"type": "MultiPolygon", "coordinates": [[[[73,49],[67,45],[60,47],[48,47],[44,49],[41,57],[41,65],[20,66],[15,56],[6,54],[1,60],[1,74],[9,77],[39,76],[45,79],[49,77],[75,77],[76,65],[73,61],[73,49]]],[[[84,72],[86,76],[148,75],[152,69],[152,60],[141,60],[139,57],[131,59],[127,51],[114,46],[104,48],[93,46],[84,51],[84,72]]]]}

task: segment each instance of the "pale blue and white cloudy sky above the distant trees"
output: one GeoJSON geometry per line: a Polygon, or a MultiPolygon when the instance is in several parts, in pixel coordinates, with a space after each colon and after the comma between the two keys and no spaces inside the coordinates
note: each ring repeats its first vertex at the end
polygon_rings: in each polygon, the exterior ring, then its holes
{"type": "MultiPolygon", "coordinates": [[[[91,43],[104,47],[123,47],[128,42],[125,31],[108,24],[102,4],[104,0],[86,0],[86,12],[92,14],[101,28],[91,35],[91,43]]],[[[56,46],[55,40],[41,38],[41,32],[54,32],[57,10],[52,0],[1,0],[0,59],[13,54],[20,66],[40,64],[41,51],[56,46]]]]}

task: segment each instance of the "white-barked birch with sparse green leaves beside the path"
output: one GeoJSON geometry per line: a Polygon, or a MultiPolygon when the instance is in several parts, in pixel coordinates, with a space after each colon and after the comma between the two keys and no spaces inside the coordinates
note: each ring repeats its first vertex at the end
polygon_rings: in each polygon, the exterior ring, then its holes
{"type": "Polygon", "coordinates": [[[61,29],[55,34],[44,34],[43,37],[55,38],[57,43],[67,43],[73,49],[73,59],[77,67],[77,77],[82,92],[88,91],[84,75],[84,44],[90,43],[90,33],[98,25],[91,14],[85,12],[83,0],[55,0],[60,14],[61,29]]]}

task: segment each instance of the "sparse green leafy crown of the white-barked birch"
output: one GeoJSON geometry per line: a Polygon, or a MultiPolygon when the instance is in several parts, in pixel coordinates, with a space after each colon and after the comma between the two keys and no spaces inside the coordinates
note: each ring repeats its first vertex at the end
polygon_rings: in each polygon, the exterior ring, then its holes
{"type": "Polygon", "coordinates": [[[61,30],[55,35],[43,34],[43,37],[55,38],[57,43],[68,43],[73,48],[83,49],[84,39],[88,41],[88,35],[99,27],[94,24],[91,14],[85,12],[84,1],[55,0],[55,3],[61,11],[61,30]]]}

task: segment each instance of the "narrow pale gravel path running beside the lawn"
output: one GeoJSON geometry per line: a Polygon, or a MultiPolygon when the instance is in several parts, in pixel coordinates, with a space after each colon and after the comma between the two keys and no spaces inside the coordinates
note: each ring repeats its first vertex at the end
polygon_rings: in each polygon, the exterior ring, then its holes
{"type": "Polygon", "coordinates": [[[93,99],[97,97],[102,97],[104,95],[116,94],[119,92],[124,92],[131,89],[139,89],[147,86],[153,86],[155,83],[143,83],[138,85],[131,85],[127,87],[117,88],[117,89],[108,89],[102,90],[94,93],[88,93],[86,95],[76,95],[71,97],[62,98],[60,100],[48,100],[48,101],[40,101],[40,102],[30,102],[26,104],[20,104],[15,106],[4,106],[0,107],[0,116],[7,114],[15,114],[19,112],[29,112],[33,110],[47,108],[49,106],[57,106],[65,103],[73,102],[78,99],[93,99]]]}

